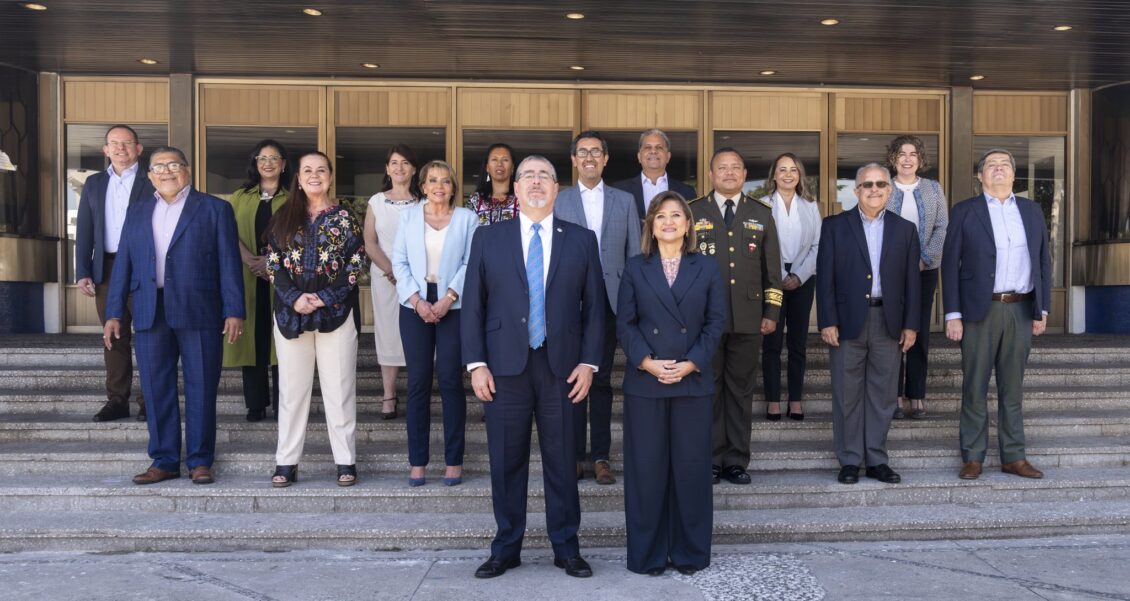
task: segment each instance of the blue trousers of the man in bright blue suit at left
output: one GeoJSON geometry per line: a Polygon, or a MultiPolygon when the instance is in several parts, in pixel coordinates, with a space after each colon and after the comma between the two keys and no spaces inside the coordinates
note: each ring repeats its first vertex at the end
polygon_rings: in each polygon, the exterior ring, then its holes
{"type": "Polygon", "coordinates": [[[141,390],[147,400],[149,456],[165,471],[181,469],[181,407],[176,363],[184,374],[184,464],[211,467],[216,459],[216,389],[224,360],[219,324],[210,330],[174,330],[157,293],[153,328],[134,336],[141,390]]]}

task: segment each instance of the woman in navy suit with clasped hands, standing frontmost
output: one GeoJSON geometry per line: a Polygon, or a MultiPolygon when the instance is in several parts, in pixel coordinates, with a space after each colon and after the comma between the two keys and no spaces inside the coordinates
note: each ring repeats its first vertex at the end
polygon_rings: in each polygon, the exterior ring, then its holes
{"type": "Polygon", "coordinates": [[[624,373],[624,506],[628,569],[658,576],[710,565],[713,499],[711,359],[727,319],[714,260],[698,254],[678,192],[652,200],[642,254],[620,280],[616,331],[624,373]]]}

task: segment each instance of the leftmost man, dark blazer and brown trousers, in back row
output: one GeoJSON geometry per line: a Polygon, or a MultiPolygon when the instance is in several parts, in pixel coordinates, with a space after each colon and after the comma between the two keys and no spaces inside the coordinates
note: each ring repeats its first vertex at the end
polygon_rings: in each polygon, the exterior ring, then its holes
{"type": "MultiPolygon", "coordinates": [[[[78,291],[93,296],[98,319],[106,323],[106,290],[114,270],[125,212],[140,199],[153,195],[153,184],[138,173],[142,147],[129,125],[106,130],[102,154],[110,159],[106,171],[87,177],[78,201],[75,232],[75,280],[78,291]]],[[[133,354],[130,351],[130,306],[122,312],[122,338],[113,340],[103,352],[106,364],[106,404],[94,415],[95,421],[130,417],[133,387],[133,354]]],[[[138,421],[145,421],[145,395],[138,392],[138,421]]]]}

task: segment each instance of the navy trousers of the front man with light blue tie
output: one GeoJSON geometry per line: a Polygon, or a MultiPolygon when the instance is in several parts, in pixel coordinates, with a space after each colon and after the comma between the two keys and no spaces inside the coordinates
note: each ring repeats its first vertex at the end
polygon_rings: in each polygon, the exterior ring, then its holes
{"type": "Polygon", "coordinates": [[[530,350],[525,372],[494,380],[497,390],[494,401],[484,403],[490,496],[498,525],[490,555],[504,561],[521,557],[530,480],[530,426],[536,421],[546,488],[546,529],[554,557],[579,557],[581,499],[576,490],[573,407],[568,399],[572,386],[549,368],[545,345],[530,350]]]}

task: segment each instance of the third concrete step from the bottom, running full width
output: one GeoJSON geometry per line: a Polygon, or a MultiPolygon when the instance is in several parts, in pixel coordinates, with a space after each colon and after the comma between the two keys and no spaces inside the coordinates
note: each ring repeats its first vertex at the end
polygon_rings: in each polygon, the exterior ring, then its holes
{"type": "MultiPolygon", "coordinates": [[[[996,438],[990,438],[990,458],[994,456],[996,438]]],[[[951,439],[890,441],[890,463],[896,469],[951,469],[960,465],[956,436],[951,439]]],[[[614,445],[615,469],[623,464],[621,448],[614,445]]],[[[442,446],[433,445],[436,465],[442,461],[442,446]]],[[[531,472],[540,472],[537,444],[531,445],[531,472]]],[[[1058,436],[1028,438],[1027,455],[1034,464],[1055,467],[1125,467],[1130,465],[1130,439],[1125,436],[1058,436]]],[[[375,442],[357,447],[357,465],[363,473],[400,474],[407,470],[408,450],[403,442],[375,442]]],[[[991,462],[991,461],[990,461],[991,462]]],[[[305,447],[302,464],[333,463],[329,445],[311,443],[305,447]]],[[[70,477],[132,476],[149,464],[141,442],[0,442],[0,477],[40,476],[70,477]]],[[[470,473],[488,471],[486,445],[468,443],[463,460],[470,473]]],[[[275,467],[273,443],[228,443],[217,447],[215,469],[228,474],[269,474],[275,467]]],[[[754,471],[832,470],[838,464],[826,442],[790,441],[757,444],[749,465],[754,471]]],[[[318,469],[318,468],[314,468],[318,469]]]]}

